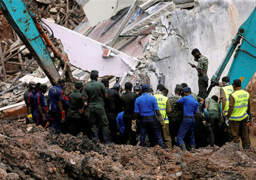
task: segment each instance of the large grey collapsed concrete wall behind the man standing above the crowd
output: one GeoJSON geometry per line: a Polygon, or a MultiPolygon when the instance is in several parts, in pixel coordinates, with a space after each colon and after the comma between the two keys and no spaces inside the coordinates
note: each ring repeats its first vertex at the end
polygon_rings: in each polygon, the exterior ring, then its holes
{"type": "MultiPolygon", "coordinates": [[[[173,92],[175,84],[187,83],[198,92],[197,71],[188,65],[194,63],[191,51],[198,48],[208,57],[208,77],[217,70],[238,28],[249,17],[255,0],[197,0],[192,10],[174,9],[169,15],[161,15],[159,27],[151,34],[142,64],[134,76],[125,81],[141,79],[153,89],[165,83],[173,92]]],[[[228,73],[229,65],[222,76],[228,73]]],[[[210,80],[209,80],[210,82],[210,80]]],[[[214,88],[212,94],[217,94],[214,88]]]]}

